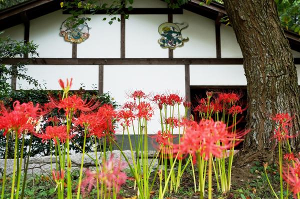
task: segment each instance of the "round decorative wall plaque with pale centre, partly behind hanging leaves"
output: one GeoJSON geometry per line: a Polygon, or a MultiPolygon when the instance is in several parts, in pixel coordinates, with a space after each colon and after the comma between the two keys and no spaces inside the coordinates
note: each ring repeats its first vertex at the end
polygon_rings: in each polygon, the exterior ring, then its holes
{"type": "Polygon", "coordinates": [[[66,19],[61,23],[59,34],[65,41],[71,43],[81,43],[89,37],[89,27],[86,18],[77,18],[75,20],[66,19]],[[83,23],[79,23],[83,22],[83,23]]]}

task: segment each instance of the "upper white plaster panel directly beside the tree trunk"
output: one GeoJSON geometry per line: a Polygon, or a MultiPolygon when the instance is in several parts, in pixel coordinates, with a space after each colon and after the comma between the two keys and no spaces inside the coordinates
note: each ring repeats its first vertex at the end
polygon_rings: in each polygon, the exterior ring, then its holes
{"type": "Polygon", "coordinates": [[[237,43],[233,28],[221,24],[221,57],[242,58],[240,47],[237,43]]]}

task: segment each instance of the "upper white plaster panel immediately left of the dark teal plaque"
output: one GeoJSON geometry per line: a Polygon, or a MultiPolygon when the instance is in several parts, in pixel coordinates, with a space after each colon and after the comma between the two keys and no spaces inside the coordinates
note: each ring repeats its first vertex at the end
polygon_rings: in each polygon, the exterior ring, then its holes
{"type": "Polygon", "coordinates": [[[168,50],[162,49],[158,26],[167,22],[167,15],[132,14],[125,20],[125,51],[126,58],[167,58],[168,50]]]}

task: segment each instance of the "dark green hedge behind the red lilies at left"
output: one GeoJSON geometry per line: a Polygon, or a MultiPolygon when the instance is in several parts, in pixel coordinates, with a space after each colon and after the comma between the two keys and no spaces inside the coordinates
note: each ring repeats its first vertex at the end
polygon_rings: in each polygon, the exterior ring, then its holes
{"type": "MultiPolygon", "coordinates": [[[[72,92],[70,92],[71,94],[72,92]]],[[[73,92],[74,93],[74,92],[73,92]]],[[[87,99],[90,100],[91,98],[98,100],[101,104],[112,104],[113,107],[116,107],[116,103],[112,101],[112,98],[108,93],[104,93],[102,95],[98,95],[97,91],[92,91],[92,92],[84,92],[83,90],[75,92],[76,95],[81,96],[82,99],[87,99]]],[[[44,103],[48,102],[48,96],[54,96],[54,97],[59,97],[62,95],[62,91],[46,91],[46,90],[18,90],[18,91],[10,91],[7,96],[0,98],[4,102],[6,106],[12,107],[12,103],[15,100],[20,101],[20,103],[23,102],[33,102],[34,104],[38,103],[40,105],[43,105],[44,103]]],[[[63,117],[64,112],[60,111],[59,113],[57,111],[53,111],[51,113],[51,116],[57,116],[57,117],[63,117]]],[[[46,119],[46,118],[45,118],[46,119]]],[[[45,128],[46,124],[43,124],[41,128],[45,128]]],[[[74,139],[74,143],[70,144],[70,148],[75,152],[75,153],[80,153],[80,149],[76,147],[76,144],[79,145],[82,148],[83,145],[83,136],[82,132],[83,129],[77,129],[78,130],[78,135],[74,139]]],[[[41,155],[41,156],[48,156],[50,155],[50,147],[49,144],[42,143],[40,138],[36,138],[33,136],[32,138],[32,147],[31,147],[31,152],[30,156],[36,156],[36,155],[41,155]]],[[[10,138],[9,143],[8,143],[8,158],[13,158],[13,140],[10,138]]],[[[19,143],[20,145],[20,143],[19,143]]],[[[25,138],[25,148],[29,145],[29,136],[25,138]]],[[[5,138],[3,136],[0,136],[0,146],[5,146],[5,138]]],[[[20,146],[19,146],[20,148],[20,146]]],[[[53,149],[54,150],[54,149],[53,149]]],[[[92,142],[90,138],[87,138],[86,140],[86,146],[85,146],[85,152],[92,152],[92,142]]],[[[5,149],[0,148],[0,158],[4,157],[5,149]]],[[[27,151],[24,151],[24,156],[27,156],[27,151]]]]}

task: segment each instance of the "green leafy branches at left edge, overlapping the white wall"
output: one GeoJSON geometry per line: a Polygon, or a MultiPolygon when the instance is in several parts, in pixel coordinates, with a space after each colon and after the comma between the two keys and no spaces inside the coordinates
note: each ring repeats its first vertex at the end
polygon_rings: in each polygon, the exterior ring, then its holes
{"type": "MultiPolygon", "coordinates": [[[[3,32],[0,32],[0,61],[2,61],[3,58],[22,57],[23,54],[38,56],[38,53],[36,52],[37,45],[33,44],[32,41],[24,44],[24,41],[15,41],[8,36],[1,37],[2,33],[3,32]]],[[[26,70],[24,63],[16,63],[13,66],[0,64],[0,98],[8,95],[10,91],[8,81],[11,79],[12,75],[17,79],[24,79],[29,84],[38,86],[38,83],[34,78],[25,74],[26,70]]]]}

